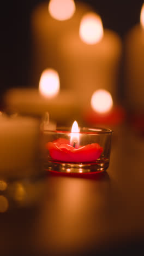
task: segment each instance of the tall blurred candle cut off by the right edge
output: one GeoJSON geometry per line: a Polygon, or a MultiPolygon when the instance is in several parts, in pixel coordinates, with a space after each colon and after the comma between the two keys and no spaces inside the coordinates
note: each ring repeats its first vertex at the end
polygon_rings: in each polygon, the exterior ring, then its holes
{"type": "Polygon", "coordinates": [[[125,78],[127,104],[131,110],[144,110],[144,4],[140,24],[133,27],[125,40],[125,78]]]}

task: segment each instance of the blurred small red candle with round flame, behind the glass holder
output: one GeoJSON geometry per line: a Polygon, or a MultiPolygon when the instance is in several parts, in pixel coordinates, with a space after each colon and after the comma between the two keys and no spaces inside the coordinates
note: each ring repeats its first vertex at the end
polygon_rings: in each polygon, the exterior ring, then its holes
{"type": "Polygon", "coordinates": [[[83,119],[86,123],[98,126],[113,126],[122,124],[125,120],[125,111],[121,106],[113,106],[112,96],[109,91],[97,90],[91,98],[91,108],[85,109],[83,119]]]}

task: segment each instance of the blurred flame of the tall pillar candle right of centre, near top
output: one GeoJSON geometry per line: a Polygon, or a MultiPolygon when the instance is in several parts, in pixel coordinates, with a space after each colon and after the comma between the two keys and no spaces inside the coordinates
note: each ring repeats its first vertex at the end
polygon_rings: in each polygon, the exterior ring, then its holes
{"type": "Polygon", "coordinates": [[[98,43],[103,37],[103,24],[100,16],[95,13],[87,13],[80,24],[80,38],[87,44],[98,43]]]}

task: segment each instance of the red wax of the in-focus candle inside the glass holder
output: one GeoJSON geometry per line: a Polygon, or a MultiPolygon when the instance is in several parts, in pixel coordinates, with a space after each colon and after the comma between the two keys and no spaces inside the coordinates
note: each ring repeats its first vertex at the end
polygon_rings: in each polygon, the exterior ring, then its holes
{"type": "Polygon", "coordinates": [[[91,162],[97,160],[103,152],[103,148],[98,143],[74,148],[69,144],[68,139],[64,138],[48,142],[46,148],[49,149],[53,160],[62,162],[91,162]]]}

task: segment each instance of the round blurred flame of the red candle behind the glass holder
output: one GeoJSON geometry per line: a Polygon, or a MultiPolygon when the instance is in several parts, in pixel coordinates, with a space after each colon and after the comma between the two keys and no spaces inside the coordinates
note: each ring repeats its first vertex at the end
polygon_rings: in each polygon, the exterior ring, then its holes
{"type": "Polygon", "coordinates": [[[92,109],[99,113],[109,112],[113,106],[113,101],[110,92],[106,90],[97,90],[91,98],[92,109]]]}

